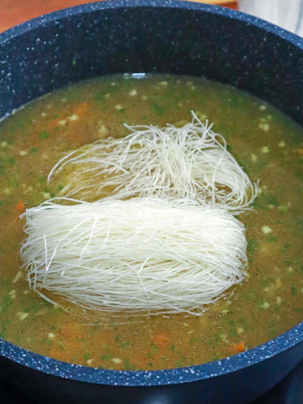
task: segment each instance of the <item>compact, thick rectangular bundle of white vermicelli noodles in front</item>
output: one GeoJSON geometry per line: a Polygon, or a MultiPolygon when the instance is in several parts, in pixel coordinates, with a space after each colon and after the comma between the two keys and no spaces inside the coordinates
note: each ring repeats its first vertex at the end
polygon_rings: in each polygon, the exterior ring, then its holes
{"type": "Polygon", "coordinates": [[[152,197],[55,200],[22,215],[23,268],[46,299],[42,288],[90,309],[199,314],[246,276],[244,225],[225,209],[152,197]]]}

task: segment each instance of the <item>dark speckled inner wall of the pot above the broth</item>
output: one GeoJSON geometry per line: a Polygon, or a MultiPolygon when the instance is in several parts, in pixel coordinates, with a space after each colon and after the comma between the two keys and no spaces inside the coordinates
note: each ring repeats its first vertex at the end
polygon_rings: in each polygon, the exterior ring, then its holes
{"type": "Polygon", "coordinates": [[[0,117],[69,82],[162,72],[237,86],[303,123],[303,51],[295,45],[232,19],[233,11],[105,3],[54,13],[0,43],[0,117]]]}

